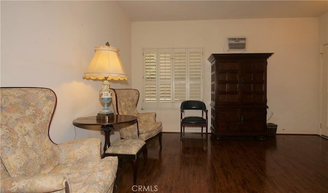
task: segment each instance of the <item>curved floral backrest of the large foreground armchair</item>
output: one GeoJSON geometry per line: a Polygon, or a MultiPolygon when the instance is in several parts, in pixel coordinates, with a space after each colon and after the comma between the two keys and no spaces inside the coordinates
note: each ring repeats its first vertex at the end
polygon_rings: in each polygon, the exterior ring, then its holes
{"type": "Polygon", "coordinates": [[[56,103],[48,88],[1,88],[1,160],[11,177],[49,172],[58,165],[57,145],[49,137],[56,103]]]}

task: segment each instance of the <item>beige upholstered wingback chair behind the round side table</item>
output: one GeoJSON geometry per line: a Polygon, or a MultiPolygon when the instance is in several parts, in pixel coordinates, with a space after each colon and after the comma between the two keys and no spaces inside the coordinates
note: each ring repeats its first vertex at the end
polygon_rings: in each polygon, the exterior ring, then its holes
{"type": "Polygon", "coordinates": [[[146,141],[158,136],[159,145],[162,147],[162,123],[156,121],[156,113],[139,113],[137,111],[139,91],[136,89],[111,89],[111,91],[115,114],[134,115],[138,118],[136,124],[120,125],[120,137],[122,139],[140,139],[146,141]]]}

